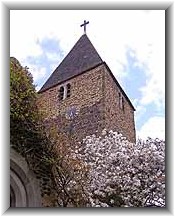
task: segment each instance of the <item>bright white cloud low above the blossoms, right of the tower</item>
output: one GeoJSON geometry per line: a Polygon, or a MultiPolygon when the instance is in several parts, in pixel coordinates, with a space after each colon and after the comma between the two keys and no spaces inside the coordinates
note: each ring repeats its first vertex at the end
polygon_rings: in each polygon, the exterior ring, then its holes
{"type": "Polygon", "coordinates": [[[137,132],[137,137],[146,139],[151,137],[153,139],[165,139],[165,118],[164,117],[151,117],[137,132]]]}

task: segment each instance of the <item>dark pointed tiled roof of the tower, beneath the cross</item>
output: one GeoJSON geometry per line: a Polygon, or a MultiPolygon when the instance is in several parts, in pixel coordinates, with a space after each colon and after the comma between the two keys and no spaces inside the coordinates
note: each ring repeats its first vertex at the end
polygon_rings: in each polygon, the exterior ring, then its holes
{"type": "Polygon", "coordinates": [[[103,63],[101,57],[86,34],[82,35],[72,50],[51,74],[39,92],[45,91],[58,83],[66,81],[83,71],[103,63]]]}

